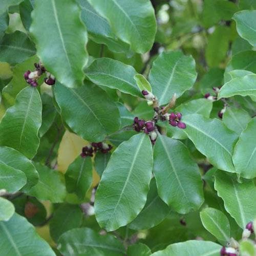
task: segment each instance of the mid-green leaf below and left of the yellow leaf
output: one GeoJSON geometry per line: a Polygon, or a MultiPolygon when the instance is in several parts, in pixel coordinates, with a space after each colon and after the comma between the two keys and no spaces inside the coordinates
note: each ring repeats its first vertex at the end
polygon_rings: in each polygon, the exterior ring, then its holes
{"type": "Polygon", "coordinates": [[[39,181],[29,190],[28,195],[40,200],[50,200],[52,203],[63,202],[66,197],[66,187],[61,173],[40,163],[35,163],[35,166],[39,181]]]}

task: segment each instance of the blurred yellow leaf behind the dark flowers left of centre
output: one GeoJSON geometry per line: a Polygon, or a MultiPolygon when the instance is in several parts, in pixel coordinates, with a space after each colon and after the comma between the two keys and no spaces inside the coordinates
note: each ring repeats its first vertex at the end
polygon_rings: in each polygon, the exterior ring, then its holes
{"type": "Polygon", "coordinates": [[[58,170],[65,173],[69,165],[81,154],[82,147],[87,144],[89,144],[88,141],[66,130],[59,144],[58,170]]]}

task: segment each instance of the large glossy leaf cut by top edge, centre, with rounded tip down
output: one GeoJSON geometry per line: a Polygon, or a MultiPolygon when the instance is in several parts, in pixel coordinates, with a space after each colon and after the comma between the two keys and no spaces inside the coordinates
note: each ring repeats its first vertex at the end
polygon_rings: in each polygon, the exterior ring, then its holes
{"type": "Polygon", "coordinates": [[[156,34],[156,18],[150,1],[88,0],[95,10],[109,20],[116,35],[137,53],[151,49],[156,34]]]}

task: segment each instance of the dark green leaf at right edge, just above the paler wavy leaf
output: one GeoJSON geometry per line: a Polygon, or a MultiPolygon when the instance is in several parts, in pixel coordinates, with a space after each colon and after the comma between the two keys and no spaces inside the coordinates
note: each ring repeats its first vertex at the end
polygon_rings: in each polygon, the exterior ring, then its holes
{"type": "Polygon", "coordinates": [[[225,73],[235,69],[244,69],[256,73],[256,52],[245,51],[232,56],[228,62],[225,73]]]}

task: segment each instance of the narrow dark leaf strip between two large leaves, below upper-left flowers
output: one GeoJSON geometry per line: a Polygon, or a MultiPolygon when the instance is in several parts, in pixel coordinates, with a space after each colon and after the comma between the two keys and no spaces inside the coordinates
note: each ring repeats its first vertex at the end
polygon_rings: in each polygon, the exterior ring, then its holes
{"type": "Polygon", "coordinates": [[[39,129],[40,137],[44,136],[44,134],[50,129],[53,121],[56,117],[56,109],[53,104],[53,99],[47,93],[41,95],[42,100],[42,125],[39,129]]]}

